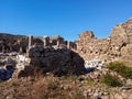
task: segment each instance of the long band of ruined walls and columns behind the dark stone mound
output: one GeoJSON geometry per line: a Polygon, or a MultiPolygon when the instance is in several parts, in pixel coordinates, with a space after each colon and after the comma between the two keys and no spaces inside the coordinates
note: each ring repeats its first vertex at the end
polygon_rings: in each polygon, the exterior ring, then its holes
{"type": "Polygon", "coordinates": [[[69,48],[77,52],[84,59],[125,61],[132,59],[132,19],[116,25],[107,38],[97,38],[94,32],[79,34],[77,42],[67,42],[62,36],[24,36],[0,33],[0,52],[28,53],[32,45],[44,47],[69,48]]]}

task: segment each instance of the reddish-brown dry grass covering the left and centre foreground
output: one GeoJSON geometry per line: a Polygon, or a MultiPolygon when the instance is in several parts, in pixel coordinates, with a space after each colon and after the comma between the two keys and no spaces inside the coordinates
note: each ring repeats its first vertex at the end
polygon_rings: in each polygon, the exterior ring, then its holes
{"type": "Polygon", "coordinates": [[[1,82],[0,88],[3,90],[0,90],[0,99],[7,99],[7,97],[9,99],[78,99],[76,97],[82,97],[81,92],[75,85],[69,84],[75,78],[74,76],[64,77],[62,82],[61,77],[35,73],[32,76],[1,82]]]}

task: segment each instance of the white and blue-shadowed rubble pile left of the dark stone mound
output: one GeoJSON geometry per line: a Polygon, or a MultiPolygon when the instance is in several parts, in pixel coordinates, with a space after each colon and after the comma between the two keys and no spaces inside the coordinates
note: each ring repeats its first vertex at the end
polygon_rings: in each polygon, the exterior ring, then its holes
{"type": "Polygon", "coordinates": [[[18,78],[20,73],[29,66],[30,58],[24,55],[16,55],[15,59],[7,57],[1,59],[0,64],[0,81],[3,81],[10,78],[18,78]]]}

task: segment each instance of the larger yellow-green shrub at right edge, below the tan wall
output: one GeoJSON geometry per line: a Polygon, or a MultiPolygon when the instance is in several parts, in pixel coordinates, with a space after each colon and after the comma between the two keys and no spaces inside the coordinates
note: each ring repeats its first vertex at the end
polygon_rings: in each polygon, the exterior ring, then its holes
{"type": "Polygon", "coordinates": [[[123,63],[111,62],[107,65],[107,67],[113,72],[119,73],[124,78],[132,79],[132,67],[127,67],[123,63]]]}

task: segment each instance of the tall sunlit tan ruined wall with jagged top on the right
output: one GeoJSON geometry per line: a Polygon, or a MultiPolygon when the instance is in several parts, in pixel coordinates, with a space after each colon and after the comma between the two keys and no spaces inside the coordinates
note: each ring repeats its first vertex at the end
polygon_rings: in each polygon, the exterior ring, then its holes
{"type": "Polygon", "coordinates": [[[132,63],[132,19],[116,25],[108,38],[99,40],[91,31],[79,34],[77,52],[85,59],[132,63]]]}

